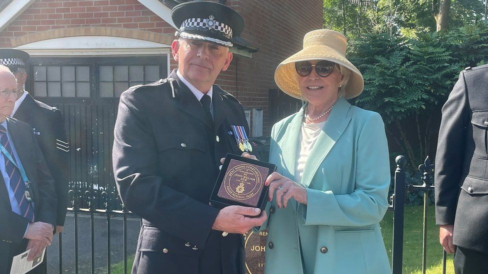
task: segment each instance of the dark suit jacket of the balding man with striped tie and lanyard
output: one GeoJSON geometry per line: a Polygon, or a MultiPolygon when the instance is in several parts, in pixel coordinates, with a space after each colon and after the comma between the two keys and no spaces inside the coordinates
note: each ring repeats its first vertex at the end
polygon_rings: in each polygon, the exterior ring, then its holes
{"type": "MultiPolygon", "coordinates": [[[[15,146],[27,178],[31,182],[34,201],[34,221],[56,224],[56,196],[54,181],[47,170],[32,128],[13,118],[7,119],[7,130],[15,146]]],[[[0,155],[3,157],[3,155],[0,155]]],[[[3,177],[0,175],[0,273],[10,273],[13,255],[25,251],[27,240],[22,239],[28,220],[12,212],[3,177]],[[13,253],[13,254],[12,254],[13,253]]]]}

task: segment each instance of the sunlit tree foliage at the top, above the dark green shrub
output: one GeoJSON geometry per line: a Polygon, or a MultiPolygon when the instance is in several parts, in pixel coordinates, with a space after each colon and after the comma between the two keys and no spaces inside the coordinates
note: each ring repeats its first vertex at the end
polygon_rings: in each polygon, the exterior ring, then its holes
{"type": "MultiPolygon", "coordinates": [[[[433,0],[324,0],[323,26],[349,37],[365,33],[435,31],[433,0]]],[[[475,25],[484,16],[484,0],[452,0],[449,26],[475,25]]]]}

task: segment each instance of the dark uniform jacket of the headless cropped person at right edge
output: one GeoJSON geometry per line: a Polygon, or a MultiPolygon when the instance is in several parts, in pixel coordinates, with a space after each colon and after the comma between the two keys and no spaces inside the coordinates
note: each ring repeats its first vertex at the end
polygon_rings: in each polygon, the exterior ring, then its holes
{"type": "Polygon", "coordinates": [[[435,219],[453,244],[488,254],[488,65],[467,68],[442,107],[435,219]]]}

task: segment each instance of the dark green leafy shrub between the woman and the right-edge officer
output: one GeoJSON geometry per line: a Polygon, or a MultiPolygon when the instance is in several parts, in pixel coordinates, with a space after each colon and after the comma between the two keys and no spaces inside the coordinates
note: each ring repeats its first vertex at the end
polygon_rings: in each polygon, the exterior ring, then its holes
{"type": "MultiPolygon", "coordinates": [[[[400,147],[409,169],[432,152],[439,113],[459,71],[488,56],[488,28],[446,32],[363,34],[349,40],[349,60],[362,72],[364,91],[355,104],[381,114],[391,144],[400,147]]],[[[435,149],[435,148],[434,148],[435,149]]]]}

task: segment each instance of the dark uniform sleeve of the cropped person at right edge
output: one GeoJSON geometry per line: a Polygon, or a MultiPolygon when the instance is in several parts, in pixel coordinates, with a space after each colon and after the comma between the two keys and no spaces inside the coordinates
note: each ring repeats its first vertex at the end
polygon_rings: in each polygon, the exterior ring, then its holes
{"type": "Polygon", "coordinates": [[[434,178],[437,225],[454,224],[469,112],[464,73],[461,72],[442,107],[434,178]]]}

